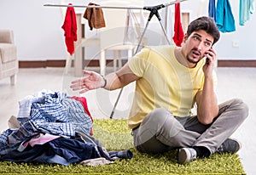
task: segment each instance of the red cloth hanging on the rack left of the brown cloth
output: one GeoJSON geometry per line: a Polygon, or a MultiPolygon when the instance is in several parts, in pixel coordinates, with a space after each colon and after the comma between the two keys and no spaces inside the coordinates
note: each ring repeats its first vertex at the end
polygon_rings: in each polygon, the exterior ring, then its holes
{"type": "MultiPolygon", "coordinates": [[[[72,5],[72,3],[68,3],[72,5]]],[[[73,7],[67,7],[67,12],[64,20],[64,24],[61,28],[65,31],[65,42],[67,46],[67,52],[72,55],[74,53],[74,42],[77,41],[77,20],[73,7]]]]}

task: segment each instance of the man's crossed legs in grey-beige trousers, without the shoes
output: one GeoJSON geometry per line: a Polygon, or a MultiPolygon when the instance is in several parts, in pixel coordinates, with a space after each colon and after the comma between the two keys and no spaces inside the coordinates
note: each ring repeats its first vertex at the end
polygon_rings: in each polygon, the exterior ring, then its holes
{"type": "Polygon", "coordinates": [[[155,109],[133,130],[134,145],[146,153],[161,153],[183,147],[205,147],[214,153],[247,118],[248,108],[241,99],[219,104],[219,113],[210,125],[196,116],[177,117],[166,109],[155,109]]]}

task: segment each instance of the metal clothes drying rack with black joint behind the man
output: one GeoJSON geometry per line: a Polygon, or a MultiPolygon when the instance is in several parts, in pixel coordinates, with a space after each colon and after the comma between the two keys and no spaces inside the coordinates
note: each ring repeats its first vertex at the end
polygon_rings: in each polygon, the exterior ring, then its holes
{"type": "MultiPolygon", "coordinates": [[[[65,4],[44,4],[44,6],[46,7],[73,7],[73,8],[119,8],[119,9],[143,9],[143,10],[148,10],[150,11],[149,15],[148,15],[148,21],[147,21],[147,24],[145,26],[145,28],[143,29],[143,34],[137,44],[137,49],[135,51],[135,54],[137,54],[138,52],[138,49],[140,48],[140,45],[141,43],[143,42],[143,37],[145,35],[145,32],[147,31],[148,29],[148,24],[149,22],[151,21],[152,17],[155,15],[155,17],[159,20],[160,22],[160,27],[166,37],[166,41],[168,42],[168,44],[171,44],[169,38],[167,37],[167,34],[166,34],[166,30],[164,28],[164,26],[162,25],[161,23],[161,18],[160,18],[160,14],[158,12],[158,10],[160,10],[161,8],[166,8],[170,5],[173,5],[173,4],[176,4],[176,3],[182,3],[184,1],[188,1],[188,0],[177,0],[177,1],[173,1],[173,2],[170,2],[170,3],[165,3],[165,4],[160,4],[160,5],[155,5],[155,6],[144,6],[144,7],[121,7],[121,6],[95,6],[95,5],[65,5],[65,4]]],[[[113,110],[111,111],[111,114],[110,114],[110,119],[113,118],[113,114],[114,114],[114,110],[117,106],[117,104],[119,103],[119,99],[120,99],[120,96],[121,96],[121,93],[123,92],[123,88],[121,88],[120,92],[119,92],[119,95],[118,95],[118,98],[116,99],[114,105],[113,105],[113,110]]]]}

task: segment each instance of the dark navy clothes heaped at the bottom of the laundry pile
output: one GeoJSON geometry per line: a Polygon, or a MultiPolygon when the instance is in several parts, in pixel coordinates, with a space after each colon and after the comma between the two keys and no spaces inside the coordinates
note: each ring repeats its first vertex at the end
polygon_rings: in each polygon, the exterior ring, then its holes
{"type": "Polygon", "coordinates": [[[15,162],[48,163],[49,161],[53,161],[52,158],[55,155],[64,158],[68,163],[84,161],[100,156],[91,144],[84,144],[73,138],[56,138],[46,144],[38,144],[34,147],[28,146],[23,152],[13,150],[9,154],[1,155],[0,159],[15,162]]]}

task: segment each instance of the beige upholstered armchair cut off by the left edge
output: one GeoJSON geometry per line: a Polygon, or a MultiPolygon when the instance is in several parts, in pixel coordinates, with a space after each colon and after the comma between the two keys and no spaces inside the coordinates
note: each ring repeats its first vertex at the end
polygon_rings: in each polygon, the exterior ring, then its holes
{"type": "Polygon", "coordinates": [[[0,59],[0,79],[10,77],[11,85],[15,85],[19,68],[12,30],[0,29],[0,59]]]}

